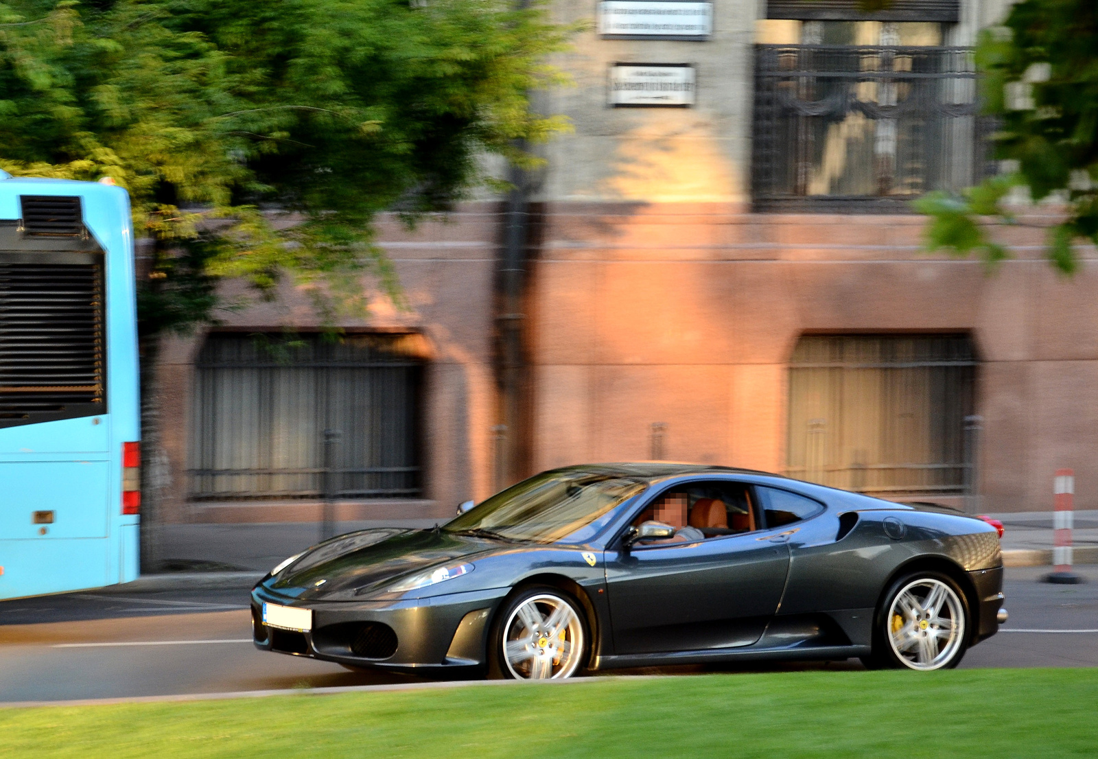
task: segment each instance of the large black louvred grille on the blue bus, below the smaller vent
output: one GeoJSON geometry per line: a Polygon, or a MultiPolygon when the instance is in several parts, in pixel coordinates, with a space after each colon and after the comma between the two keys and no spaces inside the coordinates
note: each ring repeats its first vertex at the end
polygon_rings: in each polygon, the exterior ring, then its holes
{"type": "Polygon", "coordinates": [[[102,305],[101,264],[0,263],[0,422],[103,402],[102,305]]]}

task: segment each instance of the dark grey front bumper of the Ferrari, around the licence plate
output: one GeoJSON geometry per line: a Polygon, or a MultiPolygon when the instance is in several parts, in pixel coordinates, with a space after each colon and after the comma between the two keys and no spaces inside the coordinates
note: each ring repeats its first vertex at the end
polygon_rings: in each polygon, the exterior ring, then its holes
{"type": "Polygon", "coordinates": [[[355,667],[482,667],[489,622],[506,593],[501,588],[404,601],[299,602],[257,587],[251,591],[253,641],[265,651],[355,667]],[[312,629],[283,630],[264,624],[265,601],[311,610],[312,629]],[[390,636],[395,636],[394,650],[390,636]]]}

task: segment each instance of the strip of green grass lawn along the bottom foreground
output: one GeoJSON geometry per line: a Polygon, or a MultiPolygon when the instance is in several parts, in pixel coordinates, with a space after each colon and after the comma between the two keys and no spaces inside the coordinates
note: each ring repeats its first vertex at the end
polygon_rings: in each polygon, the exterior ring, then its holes
{"type": "Polygon", "coordinates": [[[0,710],[14,757],[1098,755],[1098,669],[773,672],[0,710]]]}

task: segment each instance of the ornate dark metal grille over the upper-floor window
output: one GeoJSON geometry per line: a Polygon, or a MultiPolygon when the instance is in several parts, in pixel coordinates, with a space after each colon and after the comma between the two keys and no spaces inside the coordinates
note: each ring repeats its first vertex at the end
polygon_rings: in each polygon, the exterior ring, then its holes
{"type": "Polygon", "coordinates": [[[757,45],[758,211],[905,213],[993,170],[964,47],[757,45]]]}

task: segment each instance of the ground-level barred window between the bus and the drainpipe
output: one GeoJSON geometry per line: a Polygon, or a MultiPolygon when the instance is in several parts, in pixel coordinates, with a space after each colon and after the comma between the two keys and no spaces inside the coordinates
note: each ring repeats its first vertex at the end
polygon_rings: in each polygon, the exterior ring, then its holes
{"type": "Polygon", "coordinates": [[[191,498],[418,495],[421,344],[210,334],[195,366],[191,498]],[[338,432],[327,461],[325,431],[338,432]]]}

